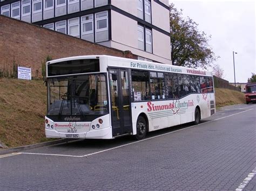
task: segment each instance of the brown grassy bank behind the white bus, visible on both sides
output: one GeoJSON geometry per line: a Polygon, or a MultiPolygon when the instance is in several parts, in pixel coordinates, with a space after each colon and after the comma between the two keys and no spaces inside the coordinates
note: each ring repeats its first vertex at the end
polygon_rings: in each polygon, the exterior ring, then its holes
{"type": "MultiPolygon", "coordinates": [[[[245,95],[215,89],[217,107],[245,103],[245,95]]],[[[44,135],[46,87],[42,80],[0,79],[0,140],[9,147],[40,143],[44,135]]]]}

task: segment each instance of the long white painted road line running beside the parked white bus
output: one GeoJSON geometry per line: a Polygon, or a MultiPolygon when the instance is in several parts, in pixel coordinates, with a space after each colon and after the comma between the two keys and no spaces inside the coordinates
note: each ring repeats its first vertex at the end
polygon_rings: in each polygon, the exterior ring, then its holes
{"type": "Polygon", "coordinates": [[[102,153],[102,152],[106,152],[106,151],[111,151],[111,150],[114,150],[114,149],[116,149],[116,148],[120,148],[120,147],[124,147],[124,146],[128,146],[128,145],[136,144],[136,143],[139,143],[139,142],[144,142],[145,140],[149,140],[149,139],[153,139],[153,138],[157,138],[157,137],[169,135],[169,134],[174,133],[174,132],[178,132],[178,131],[183,131],[183,130],[186,130],[186,129],[190,129],[190,128],[193,128],[194,126],[199,126],[199,125],[203,125],[203,124],[206,124],[206,123],[211,123],[211,122],[214,122],[214,121],[218,121],[218,120],[220,120],[220,119],[224,119],[224,118],[227,118],[227,117],[231,117],[231,116],[234,116],[234,115],[238,115],[238,114],[241,114],[241,113],[243,113],[243,112],[250,111],[250,110],[253,110],[253,109],[248,109],[248,110],[245,110],[245,111],[238,112],[237,114],[232,114],[232,115],[229,115],[229,116],[220,117],[220,118],[218,118],[218,119],[214,119],[214,120],[212,120],[212,121],[200,123],[200,124],[198,124],[198,125],[188,126],[187,128],[179,129],[179,130],[172,131],[172,132],[167,132],[167,133],[164,133],[164,134],[161,134],[161,135],[157,135],[157,136],[154,136],[154,137],[146,138],[146,139],[143,139],[143,140],[138,140],[138,141],[136,141],[136,142],[132,142],[132,143],[128,143],[128,144],[124,144],[124,145],[120,145],[120,146],[108,148],[108,149],[106,149],[106,150],[102,150],[102,151],[98,151],[98,152],[94,152],[94,153],[90,153],[90,154],[85,154],[85,155],[45,154],[45,153],[26,153],[26,152],[21,152],[20,154],[51,155],[51,156],[60,156],[60,157],[77,157],[77,158],[89,157],[89,156],[94,155],[94,154],[98,154],[98,153],[102,153]]]}

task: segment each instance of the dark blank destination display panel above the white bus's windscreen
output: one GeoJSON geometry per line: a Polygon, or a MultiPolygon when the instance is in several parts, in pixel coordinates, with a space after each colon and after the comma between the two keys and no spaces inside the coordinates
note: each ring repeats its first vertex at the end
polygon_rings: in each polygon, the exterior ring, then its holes
{"type": "Polygon", "coordinates": [[[99,59],[69,60],[48,65],[48,76],[99,72],[99,59]]]}

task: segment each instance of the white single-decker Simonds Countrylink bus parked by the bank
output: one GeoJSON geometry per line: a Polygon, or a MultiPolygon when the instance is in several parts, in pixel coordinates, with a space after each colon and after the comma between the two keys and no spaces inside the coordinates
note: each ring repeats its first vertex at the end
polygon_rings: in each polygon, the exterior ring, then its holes
{"type": "Polygon", "coordinates": [[[47,62],[46,137],[113,139],[215,113],[213,77],[199,69],[107,55],[47,62]]]}

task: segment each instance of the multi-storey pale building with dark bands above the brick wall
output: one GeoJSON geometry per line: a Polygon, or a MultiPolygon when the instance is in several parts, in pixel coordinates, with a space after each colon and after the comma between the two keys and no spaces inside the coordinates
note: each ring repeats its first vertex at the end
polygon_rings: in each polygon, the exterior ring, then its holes
{"type": "Polygon", "coordinates": [[[1,0],[0,13],[129,50],[138,60],[172,63],[168,0],[1,0]]]}

